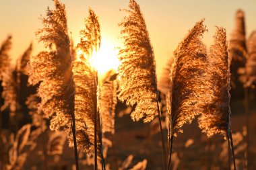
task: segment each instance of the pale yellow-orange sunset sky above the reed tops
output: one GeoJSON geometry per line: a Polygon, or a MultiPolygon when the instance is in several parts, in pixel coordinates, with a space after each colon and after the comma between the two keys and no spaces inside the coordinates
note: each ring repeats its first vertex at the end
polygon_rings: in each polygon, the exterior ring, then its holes
{"type": "MultiPolygon", "coordinates": [[[[62,0],[67,11],[67,22],[75,44],[79,41],[79,31],[84,29],[84,18],[88,8],[94,10],[100,19],[102,41],[119,46],[121,22],[129,0],[62,0]]],[[[234,27],[234,14],[237,9],[245,11],[247,36],[256,30],[255,0],[137,0],[146,20],[150,40],[156,58],[156,73],[160,77],[168,58],[195,22],[205,18],[209,30],[203,35],[207,48],[212,44],[215,26],[226,28],[229,38],[234,27]]],[[[11,58],[13,62],[33,42],[36,55],[44,50],[38,44],[36,30],[42,28],[40,15],[44,16],[47,7],[53,9],[51,0],[0,0],[0,43],[13,36],[11,58]]]]}

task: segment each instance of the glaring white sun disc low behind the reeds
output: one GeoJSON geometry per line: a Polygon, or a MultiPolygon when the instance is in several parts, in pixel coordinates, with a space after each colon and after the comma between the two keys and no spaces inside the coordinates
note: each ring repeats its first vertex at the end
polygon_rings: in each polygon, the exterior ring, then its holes
{"type": "Polygon", "coordinates": [[[114,70],[119,67],[118,50],[115,45],[102,40],[98,52],[94,52],[92,56],[92,65],[97,69],[99,75],[114,70]]]}

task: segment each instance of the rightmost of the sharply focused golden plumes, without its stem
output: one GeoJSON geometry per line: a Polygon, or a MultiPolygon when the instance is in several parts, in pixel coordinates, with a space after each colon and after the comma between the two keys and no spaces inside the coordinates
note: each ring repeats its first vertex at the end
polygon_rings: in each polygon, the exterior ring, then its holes
{"type": "Polygon", "coordinates": [[[226,136],[230,128],[230,70],[227,49],[226,30],[217,27],[206,69],[210,77],[207,84],[208,91],[212,91],[213,95],[210,102],[203,105],[203,112],[198,119],[199,128],[207,136],[214,134],[226,136]]]}

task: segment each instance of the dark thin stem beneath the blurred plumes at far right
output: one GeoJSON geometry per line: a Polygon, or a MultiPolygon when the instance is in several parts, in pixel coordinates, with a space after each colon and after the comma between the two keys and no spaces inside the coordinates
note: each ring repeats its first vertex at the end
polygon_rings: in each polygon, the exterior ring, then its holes
{"type": "Polygon", "coordinates": [[[250,119],[250,115],[249,115],[249,89],[247,87],[245,87],[245,114],[247,117],[247,169],[249,169],[249,119],[250,119]]]}

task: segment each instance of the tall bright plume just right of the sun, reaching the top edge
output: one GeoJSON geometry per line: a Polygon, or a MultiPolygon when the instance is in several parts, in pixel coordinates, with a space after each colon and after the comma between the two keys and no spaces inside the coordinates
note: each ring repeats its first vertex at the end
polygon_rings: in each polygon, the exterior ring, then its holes
{"type": "Polygon", "coordinates": [[[118,97],[127,105],[136,105],[131,113],[134,121],[150,122],[158,114],[154,52],[139,5],[130,0],[124,11],[129,15],[119,24],[124,46],[119,50],[117,79],[122,83],[118,97]]]}

